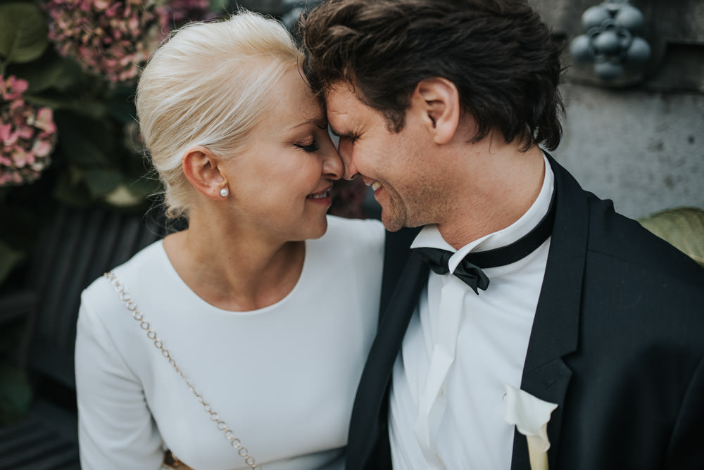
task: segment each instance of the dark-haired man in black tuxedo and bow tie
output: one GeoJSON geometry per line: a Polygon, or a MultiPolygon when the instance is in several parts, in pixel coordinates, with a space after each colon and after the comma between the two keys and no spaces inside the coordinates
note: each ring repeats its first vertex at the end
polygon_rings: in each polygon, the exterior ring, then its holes
{"type": "Polygon", "coordinates": [[[347,468],[703,469],[704,272],[543,151],[562,66],[535,11],[338,0],[302,27],[345,177],[395,232],[347,468]]]}

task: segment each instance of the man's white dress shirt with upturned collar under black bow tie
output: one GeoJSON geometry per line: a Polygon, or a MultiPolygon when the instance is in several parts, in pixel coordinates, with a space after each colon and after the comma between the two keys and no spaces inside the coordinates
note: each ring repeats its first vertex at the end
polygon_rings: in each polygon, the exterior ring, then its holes
{"type": "MultiPolygon", "coordinates": [[[[452,251],[452,273],[467,253],[517,241],[550,208],[554,176],[543,160],[538,198],[509,227],[455,250],[429,225],[411,247],[452,251]]],[[[490,284],[479,295],[453,274],[430,272],[394,364],[395,469],[510,469],[514,428],[503,419],[505,384],[520,388],[549,247],[548,238],[522,260],[484,269],[490,284]]]]}

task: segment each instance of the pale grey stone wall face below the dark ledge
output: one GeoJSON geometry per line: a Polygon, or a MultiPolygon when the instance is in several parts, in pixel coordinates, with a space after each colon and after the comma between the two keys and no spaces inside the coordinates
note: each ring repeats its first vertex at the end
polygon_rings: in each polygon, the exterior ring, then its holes
{"type": "Polygon", "coordinates": [[[553,156],[584,189],[641,217],[704,208],[704,95],[562,86],[564,136],[553,156]]]}

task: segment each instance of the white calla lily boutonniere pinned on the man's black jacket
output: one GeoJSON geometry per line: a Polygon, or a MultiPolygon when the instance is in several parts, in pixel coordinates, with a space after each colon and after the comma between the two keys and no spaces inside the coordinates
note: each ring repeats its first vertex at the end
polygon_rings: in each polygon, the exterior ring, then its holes
{"type": "Polygon", "coordinates": [[[506,384],[504,419],[526,436],[531,470],[548,470],[548,421],[557,407],[506,384]]]}

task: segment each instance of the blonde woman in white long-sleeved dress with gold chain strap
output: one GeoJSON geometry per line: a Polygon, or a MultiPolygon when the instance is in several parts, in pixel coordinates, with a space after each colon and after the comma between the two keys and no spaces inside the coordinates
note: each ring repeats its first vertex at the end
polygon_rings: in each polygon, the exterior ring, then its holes
{"type": "Polygon", "coordinates": [[[343,171],[275,20],[191,24],[153,54],[137,113],[166,236],[82,294],[84,470],[342,469],[376,331],[384,229],[327,216],[343,171]]]}

